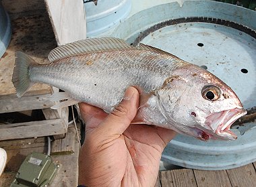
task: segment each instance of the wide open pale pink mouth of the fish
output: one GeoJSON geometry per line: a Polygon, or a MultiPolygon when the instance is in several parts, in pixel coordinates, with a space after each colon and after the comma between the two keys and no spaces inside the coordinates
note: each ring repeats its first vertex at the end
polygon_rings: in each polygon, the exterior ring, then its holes
{"type": "Polygon", "coordinates": [[[219,113],[208,116],[205,120],[205,125],[210,127],[210,129],[222,139],[236,139],[237,136],[230,131],[230,127],[234,121],[246,114],[247,111],[245,109],[238,108],[220,111],[219,113]]]}

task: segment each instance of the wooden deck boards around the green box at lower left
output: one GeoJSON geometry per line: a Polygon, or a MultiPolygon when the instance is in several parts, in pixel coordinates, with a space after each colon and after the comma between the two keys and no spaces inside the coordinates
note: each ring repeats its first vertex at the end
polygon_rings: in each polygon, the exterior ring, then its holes
{"type": "MultiPolygon", "coordinates": [[[[79,124],[77,125],[79,127],[79,124]]],[[[7,165],[5,171],[0,176],[1,187],[10,186],[20,165],[29,153],[32,151],[46,153],[48,148],[46,137],[0,141],[0,147],[3,147],[7,152],[7,165]]],[[[50,186],[77,186],[78,154],[79,143],[75,127],[71,124],[65,138],[57,139],[51,143],[51,158],[60,167],[50,186]],[[57,150],[65,151],[58,152],[57,150]]]]}

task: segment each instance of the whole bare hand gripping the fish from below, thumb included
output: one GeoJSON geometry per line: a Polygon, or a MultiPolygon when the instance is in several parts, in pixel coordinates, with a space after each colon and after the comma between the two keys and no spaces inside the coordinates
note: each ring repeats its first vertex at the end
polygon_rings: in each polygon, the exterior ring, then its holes
{"type": "Polygon", "coordinates": [[[130,125],[139,93],[127,88],[111,114],[80,103],[86,137],[79,153],[79,184],[85,186],[154,186],[162,151],[176,134],[151,125],[130,125]]]}

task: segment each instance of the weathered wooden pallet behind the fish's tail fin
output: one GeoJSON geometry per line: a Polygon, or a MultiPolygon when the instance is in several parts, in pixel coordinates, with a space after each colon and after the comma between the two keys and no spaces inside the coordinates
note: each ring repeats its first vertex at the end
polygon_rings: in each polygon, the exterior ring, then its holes
{"type": "Polygon", "coordinates": [[[15,52],[25,52],[36,62],[46,64],[49,52],[57,46],[44,1],[3,1],[3,5],[11,18],[12,37],[0,59],[0,113],[42,109],[45,120],[0,125],[0,140],[67,133],[67,109],[50,109],[55,105],[48,99],[56,91],[53,87],[34,84],[24,97],[18,98],[11,82],[15,52]]]}

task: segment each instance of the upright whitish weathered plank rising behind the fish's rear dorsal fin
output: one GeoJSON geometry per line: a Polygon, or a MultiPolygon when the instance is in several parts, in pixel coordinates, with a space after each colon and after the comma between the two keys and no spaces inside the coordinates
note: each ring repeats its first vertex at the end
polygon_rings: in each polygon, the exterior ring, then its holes
{"type": "Polygon", "coordinates": [[[80,0],[44,0],[58,45],[86,39],[86,15],[80,0]]]}

